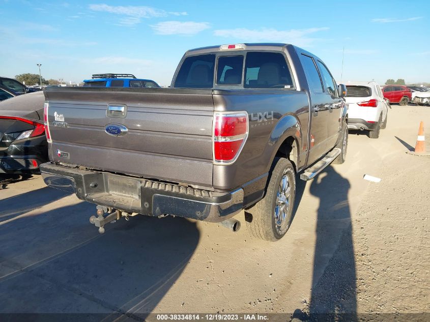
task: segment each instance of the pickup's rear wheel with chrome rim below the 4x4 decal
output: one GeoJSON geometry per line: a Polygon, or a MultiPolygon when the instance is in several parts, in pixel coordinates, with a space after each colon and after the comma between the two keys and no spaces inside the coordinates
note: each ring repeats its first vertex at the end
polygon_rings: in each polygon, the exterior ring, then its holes
{"type": "Polygon", "coordinates": [[[290,160],[276,157],[268,180],[264,198],[245,210],[245,222],[252,238],[275,242],[293,220],[296,171],[290,160]]]}

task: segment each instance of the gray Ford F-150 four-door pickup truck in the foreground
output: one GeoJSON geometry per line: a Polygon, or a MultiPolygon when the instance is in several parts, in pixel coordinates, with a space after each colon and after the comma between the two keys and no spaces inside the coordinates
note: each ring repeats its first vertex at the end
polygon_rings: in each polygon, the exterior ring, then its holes
{"type": "Polygon", "coordinates": [[[90,222],[137,214],[218,222],[245,210],[276,241],[293,218],[296,175],[345,160],[348,109],[317,56],[289,44],[189,50],[168,89],[45,91],[45,183],[97,205],[90,222]]]}

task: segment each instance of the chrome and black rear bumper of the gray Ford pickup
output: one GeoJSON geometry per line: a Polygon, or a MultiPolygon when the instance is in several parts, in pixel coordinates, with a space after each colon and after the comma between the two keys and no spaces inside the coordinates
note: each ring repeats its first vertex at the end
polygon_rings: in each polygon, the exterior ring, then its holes
{"type": "Polygon", "coordinates": [[[243,208],[243,189],[217,193],[51,162],[42,164],[40,169],[48,186],[73,192],[81,200],[126,212],[221,222],[243,208]]]}

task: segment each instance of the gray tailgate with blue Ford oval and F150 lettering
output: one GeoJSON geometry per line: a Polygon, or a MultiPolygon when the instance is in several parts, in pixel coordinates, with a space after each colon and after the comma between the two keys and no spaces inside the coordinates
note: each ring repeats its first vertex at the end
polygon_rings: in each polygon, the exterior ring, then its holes
{"type": "Polygon", "coordinates": [[[52,161],[212,187],[211,90],[66,87],[45,97],[52,161]],[[127,133],[110,135],[109,124],[127,133]]]}

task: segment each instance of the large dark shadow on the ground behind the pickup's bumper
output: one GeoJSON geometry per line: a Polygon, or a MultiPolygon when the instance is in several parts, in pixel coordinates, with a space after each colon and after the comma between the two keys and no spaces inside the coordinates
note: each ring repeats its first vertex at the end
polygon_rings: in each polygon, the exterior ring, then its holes
{"type": "Polygon", "coordinates": [[[135,216],[99,235],[89,222],[94,213],[93,204],[78,202],[0,226],[0,313],[139,320],[155,308],[197,247],[196,224],[135,216]]]}

